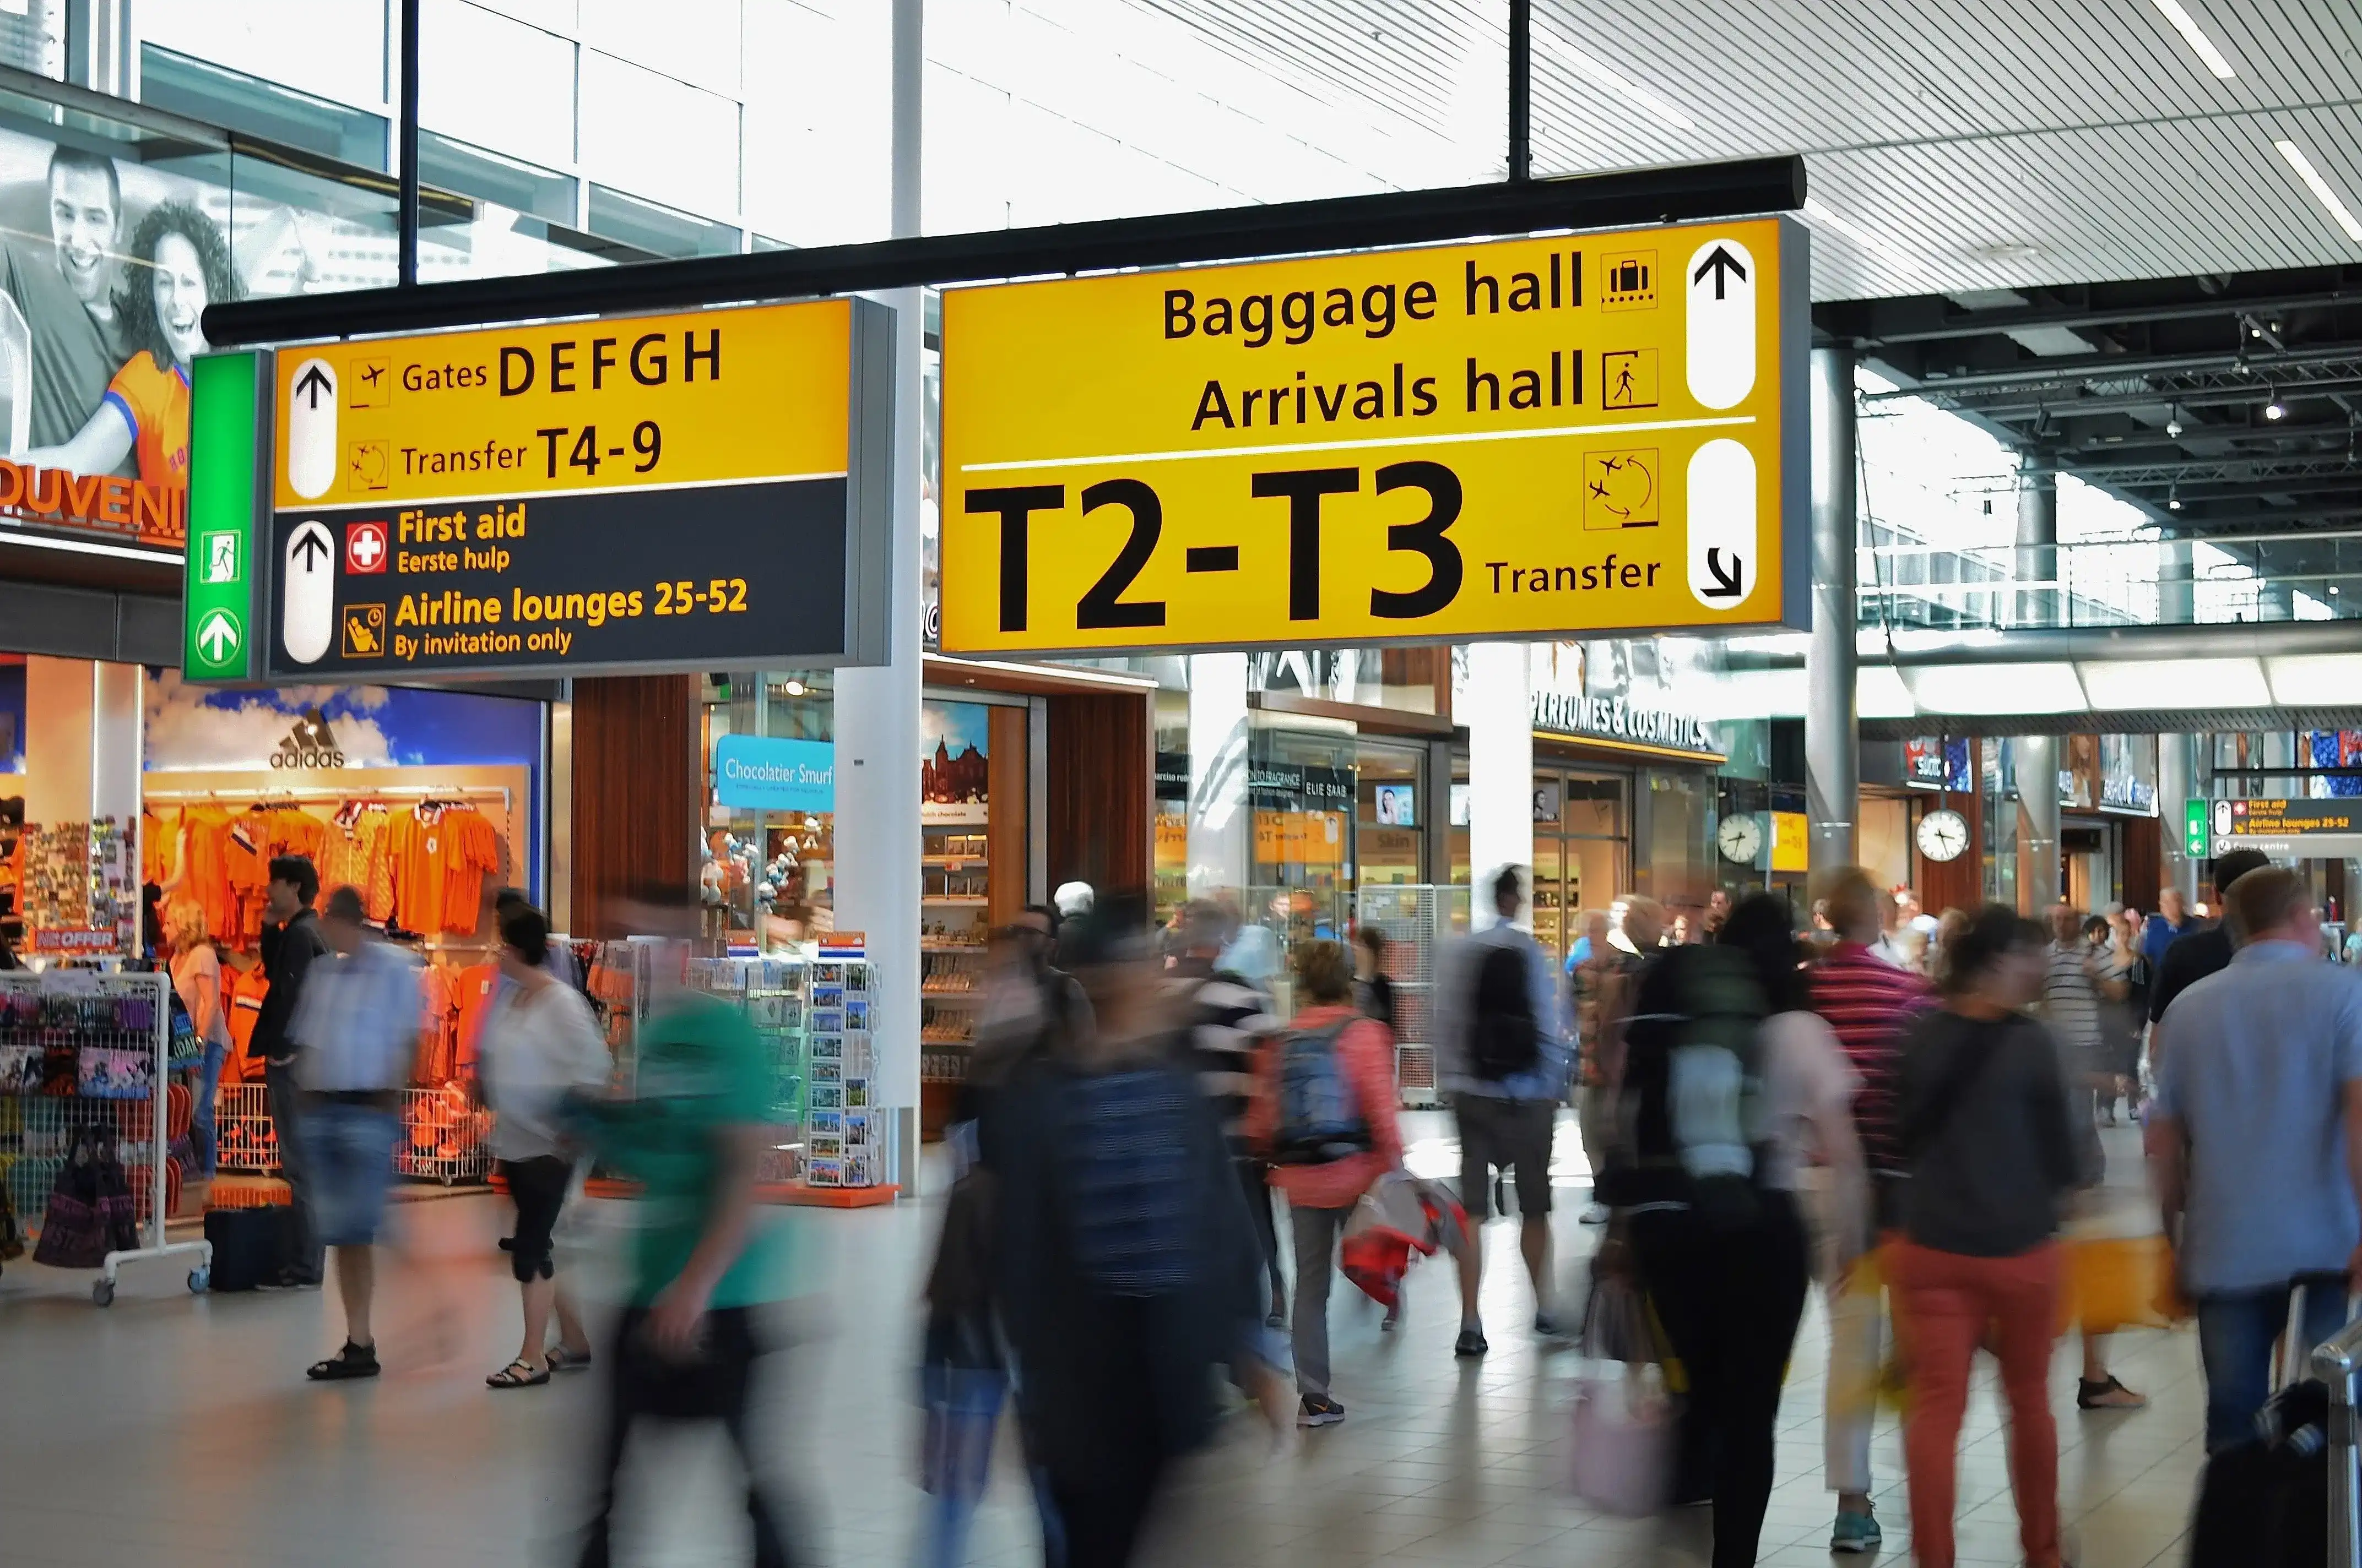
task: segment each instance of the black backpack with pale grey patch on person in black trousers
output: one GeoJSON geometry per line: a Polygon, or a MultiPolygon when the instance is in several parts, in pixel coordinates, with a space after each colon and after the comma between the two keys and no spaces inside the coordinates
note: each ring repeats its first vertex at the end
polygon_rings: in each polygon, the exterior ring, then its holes
{"type": "Polygon", "coordinates": [[[1731,947],[1675,947],[1644,971],[1625,1037],[1632,1162],[1606,1202],[1686,1204],[1722,1226],[1755,1216],[1767,1013],[1753,963],[1731,947]]]}

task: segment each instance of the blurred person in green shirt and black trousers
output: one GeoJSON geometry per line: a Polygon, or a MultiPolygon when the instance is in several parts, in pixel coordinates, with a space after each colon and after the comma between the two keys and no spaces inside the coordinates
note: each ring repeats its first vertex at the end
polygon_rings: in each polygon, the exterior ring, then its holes
{"type": "MultiPolygon", "coordinates": [[[[640,916],[633,930],[694,919],[685,902],[640,916]]],[[[642,1188],[631,1299],[607,1355],[607,1440],[583,1568],[609,1563],[616,1474],[642,1415],[720,1422],[746,1466],[756,1568],[791,1561],[746,1443],[746,1396],[768,1351],[761,1308],[791,1294],[787,1216],[756,1211],[772,1091],[770,1058],[744,1013],[671,989],[638,1030],[631,1098],[569,1100],[600,1164],[642,1188]]]]}

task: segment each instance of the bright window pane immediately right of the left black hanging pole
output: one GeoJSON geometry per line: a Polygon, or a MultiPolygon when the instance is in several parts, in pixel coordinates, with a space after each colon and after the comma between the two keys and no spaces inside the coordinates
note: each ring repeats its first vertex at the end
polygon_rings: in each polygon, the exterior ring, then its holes
{"type": "MultiPolygon", "coordinates": [[[[463,0],[428,0],[418,17],[418,123],[472,146],[543,165],[574,163],[574,45],[463,0]]],[[[635,120],[638,116],[624,113],[635,120]]],[[[645,123],[642,123],[645,130],[645,123]]],[[[557,222],[529,201],[456,187],[557,222]]]]}

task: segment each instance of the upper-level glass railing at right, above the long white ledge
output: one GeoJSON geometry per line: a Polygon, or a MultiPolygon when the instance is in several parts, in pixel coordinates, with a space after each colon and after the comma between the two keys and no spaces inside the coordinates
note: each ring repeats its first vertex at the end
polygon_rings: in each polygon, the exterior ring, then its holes
{"type": "Polygon", "coordinates": [[[1859,621],[2012,631],[2362,616],[2362,531],[2100,538],[2057,545],[1864,543],[1859,621]]]}

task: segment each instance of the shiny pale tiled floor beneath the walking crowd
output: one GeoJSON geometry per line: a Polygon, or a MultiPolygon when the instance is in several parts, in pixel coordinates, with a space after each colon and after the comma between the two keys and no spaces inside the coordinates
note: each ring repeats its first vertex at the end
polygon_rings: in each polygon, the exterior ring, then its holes
{"type": "MultiPolygon", "coordinates": [[[[1410,1129],[1415,1164],[1450,1164],[1448,1126],[1410,1129]]],[[[2119,1133],[2123,1138],[2123,1133],[2119,1133]]],[[[2138,1181],[2138,1150],[2112,1145],[2138,1181]]],[[[1561,1159],[1561,1266],[1590,1233],[1575,1223],[1580,1150],[1561,1159]],[[1573,1188],[1573,1190],[1568,1190],[1573,1188]]],[[[2138,1211],[2135,1190],[2123,1190],[2138,1211]]],[[[132,1266],[109,1311],[87,1275],[9,1266],[0,1278],[0,1563],[83,1568],[451,1568],[562,1563],[581,1509],[595,1419],[588,1377],[489,1393],[482,1374],[515,1348],[515,1289],[491,1259],[505,1204],[489,1197],[406,1207],[418,1259],[397,1270],[380,1315],[380,1384],[317,1389],[302,1363],[335,1341],[321,1294],[191,1299],[180,1268],[132,1266]],[[430,1311],[432,1301],[444,1315],[430,1311]],[[442,1322],[437,1332],[430,1325],[442,1322]],[[446,1346],[437,1360],[437,1346],[446,1346]]],[[[628,1211],[583,1226],[583,1275],[612,1256],[628,1211]]],[[[912,1563],[926,1497],[914,1485],[909,1400],[916,1270],[928,1207],[796,1214],[822,1289],[796,1313],[798,1346],[763,1398],[763,1462],[796,1507],[810,1559],[912,1563]]],[[[1190,1462],[1160,1518],[1150,1561],[1226,1568],[1349,1563],[1606,1568],[1703,1563],[1703,1514],[1668,1523],[1599,1516],[1566,1495],[1575,1358],[1526,1334],[1531,1299],[1514,1230],[1488,1233],[1493,1353],[1455,1363],[1448,1266],[1410,1280],[1408,1322],[1382,1334],[1377,1308],[1339,1289],[1335,1381],[1351,1417],[1273,1455],[1254,1422],[1190,1462]]],[[[1764,1563],[1826,1563],[1821,1490],[1821,1320],[1797,1344],[1779,1452],[1781,1485],[1764,1563]]],[[[2138,1332],[2116,1367],[2152,1396],[2138,1415],[2076,1415],[2074,1346],[2060,1346],[2062,1500],[2086,1568],[2178,1561],[2199,1466],[2194,1339],[2138,1332]]],[[[1960,1455],[1963,1561],[2017,1561],[2017,1525],[1989,1379],[1960,1455]]],[[[1122,1391],[1110,1391],[1122,1398],[1122,1391]]],[[[1006,1455],[1006,1450],[1004,1450],[1006,1455]]],[[[635,1497],[652,1525],[624,1563],[742,1561],[711,1433],[642,1443],[635,1497]]],[[[1878,1433],[1885,1561],[1906,1561],[1901,1462],[1892,1419],[1878,1433]]],[[[1039,1561],[1032,1514],[1004,1462],[978,1523],[978,1563],[1039,1561]]]]}

